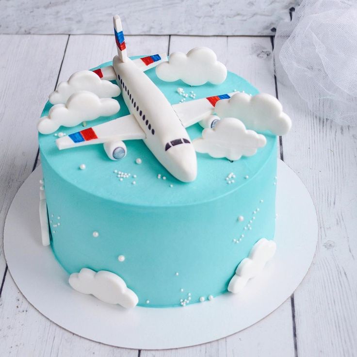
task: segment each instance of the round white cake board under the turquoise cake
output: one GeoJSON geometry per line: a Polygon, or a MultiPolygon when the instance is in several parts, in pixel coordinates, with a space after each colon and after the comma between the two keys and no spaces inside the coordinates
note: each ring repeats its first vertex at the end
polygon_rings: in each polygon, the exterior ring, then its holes
{"type": "Polygon", "coordinates": [[[317,217],[301,180],[278,162],[276,255],[243,292],[178,308],[130,310],[72,290],[49,246],[41,244],[37,168],[16,194],[4,229],[4,250],[17,287],[55,324],[114,346],[166,349],[214,341],[255,324],[278,308],[300,284],[317,243],[317,217]]]}

